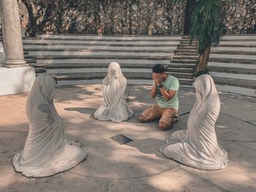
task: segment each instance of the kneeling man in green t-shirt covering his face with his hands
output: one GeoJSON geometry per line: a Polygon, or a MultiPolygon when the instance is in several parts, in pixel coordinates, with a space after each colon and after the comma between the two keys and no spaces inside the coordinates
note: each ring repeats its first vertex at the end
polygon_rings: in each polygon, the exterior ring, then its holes
{"type": "Polygon", "coordinates": [[[148,107],[140,115],[140,122],[151,122],[159,118],[159,128],[167,130],[174,125],[174,117],[178,114],[178,87],[176,77],[165,72],[165,67],[157,64],[153,67],[153,88],[151,97],[157,96],[157,102],[148,107]]]}

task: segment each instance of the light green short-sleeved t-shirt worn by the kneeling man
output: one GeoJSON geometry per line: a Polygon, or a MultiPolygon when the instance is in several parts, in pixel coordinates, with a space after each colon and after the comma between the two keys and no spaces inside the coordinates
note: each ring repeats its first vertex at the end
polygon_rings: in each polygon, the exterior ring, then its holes
{"type": "Polygon", "coordinates": [[[178,87],[179,82],[176,77],[173,77],[169,74],[169,77],[162,82],[166,91],[173,90],[176,91],[176,94],[169,101],[165,100],[165,97],[162,96],[161,91],[157,88],[157,105],[162,108],[174,108],[178,110],[178,87]]]}

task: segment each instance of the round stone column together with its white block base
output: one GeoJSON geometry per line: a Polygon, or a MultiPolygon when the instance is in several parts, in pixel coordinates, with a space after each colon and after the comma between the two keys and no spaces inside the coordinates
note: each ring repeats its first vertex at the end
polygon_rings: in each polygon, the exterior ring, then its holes
{"type": "Polygon", "coordinates": [[[0,67],[0,96],[30,91],[34,68],[26,64],[20,31],[17,0],[0,0],[5,67],[0,67]]]}

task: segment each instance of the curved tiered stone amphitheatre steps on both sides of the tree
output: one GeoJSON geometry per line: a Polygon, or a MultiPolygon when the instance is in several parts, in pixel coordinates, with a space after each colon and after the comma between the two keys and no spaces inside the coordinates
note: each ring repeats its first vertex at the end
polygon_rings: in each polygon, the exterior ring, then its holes
{"type": "MultiPolygon", "coordinates": [[[[46,35],[23,39],[27,63],[52,74],[58,85],[101,83],[117,61],[129,84],[151,85],[151,68],[163,64],[191,86],[197,51],[189,36],[46,35]]],[[[256,35],[226,35],[211,48],[208,69],[219,91],[255,96],[256,35]]]]}

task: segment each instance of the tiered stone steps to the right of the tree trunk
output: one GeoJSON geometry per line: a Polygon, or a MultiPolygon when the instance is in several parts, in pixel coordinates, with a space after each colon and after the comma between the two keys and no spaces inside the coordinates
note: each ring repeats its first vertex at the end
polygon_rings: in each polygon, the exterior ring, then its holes
{"type": "Polygon", "coordinates": [[[211,47],[208,69],[219,91],[256,96],[256,35],[226,35],[211,47]]]}

